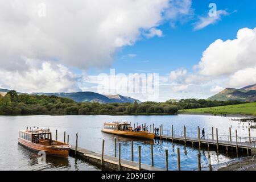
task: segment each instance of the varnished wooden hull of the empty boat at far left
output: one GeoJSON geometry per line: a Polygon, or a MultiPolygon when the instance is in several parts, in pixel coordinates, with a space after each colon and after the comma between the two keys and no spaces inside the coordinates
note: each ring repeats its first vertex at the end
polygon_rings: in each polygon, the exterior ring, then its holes
{"type": "Polygon", "coordinates": [[[32,151],[44,151],[46,155],[57,156],[61,158],[68,158],[70,147],[52,147],[44,146],[42,144],[32,143],[22,138],[18,138],[18,143],[32,151]]]}

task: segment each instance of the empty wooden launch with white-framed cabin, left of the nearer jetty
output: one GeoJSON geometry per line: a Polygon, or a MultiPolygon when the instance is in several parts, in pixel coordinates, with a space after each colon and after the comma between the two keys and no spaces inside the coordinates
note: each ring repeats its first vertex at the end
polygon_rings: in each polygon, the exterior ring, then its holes
{"type": "Polygon", "coordinates": [[[67,158],[69,148],[67,143],[52,140],[49,129],[27,129],[19,131],[18,143],[33,151],[44,151],[46,155],[67,158]]]}

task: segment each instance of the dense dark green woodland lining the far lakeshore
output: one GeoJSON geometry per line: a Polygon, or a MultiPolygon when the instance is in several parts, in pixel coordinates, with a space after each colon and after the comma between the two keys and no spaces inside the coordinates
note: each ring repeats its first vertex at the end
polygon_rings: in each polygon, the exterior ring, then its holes
{"type": "Polygon", "coordinates": [[[96,102],[77,103],[69,98],[57,96],[38,96],[17,94],[11,90],[5,96],[0,95],[0,115],[29,115],[29,114],[176,114],[179,109],[194,109],[241,104],[239,101],[207,101],[207,100],[169,100],[166,102],[143,102],[138,104],[96,102]]]}

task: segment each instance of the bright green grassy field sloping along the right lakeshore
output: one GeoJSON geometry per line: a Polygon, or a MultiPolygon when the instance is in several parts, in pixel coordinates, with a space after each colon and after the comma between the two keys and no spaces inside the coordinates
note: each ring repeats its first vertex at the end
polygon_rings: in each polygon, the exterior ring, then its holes
{"type": "Polygon", "coordinates": [[[247,104],[220,106],[220,107],[207,107],[200,109],[187,109],[180,110],[179,113],[195,113],[195,114],[249,114],[256,115],[256,102],[247,104]]]}

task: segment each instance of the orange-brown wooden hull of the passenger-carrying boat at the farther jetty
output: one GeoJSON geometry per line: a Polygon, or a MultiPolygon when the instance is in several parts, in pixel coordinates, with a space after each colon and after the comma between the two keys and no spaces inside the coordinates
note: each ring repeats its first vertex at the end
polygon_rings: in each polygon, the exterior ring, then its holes
{"type": "Polygon", "coordinates": [[[121,135],[123,137],[133,137],[133,138],[143,138],[143,139],[154,139],[154,133],[148,133],[143,131],[121,131],[121,130],[109,130],[109,129],[102,129],[104,133],[114,134],[114,135],[121,135]]]}

